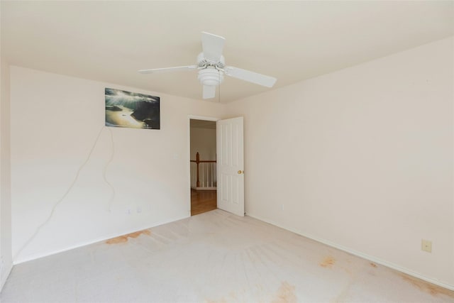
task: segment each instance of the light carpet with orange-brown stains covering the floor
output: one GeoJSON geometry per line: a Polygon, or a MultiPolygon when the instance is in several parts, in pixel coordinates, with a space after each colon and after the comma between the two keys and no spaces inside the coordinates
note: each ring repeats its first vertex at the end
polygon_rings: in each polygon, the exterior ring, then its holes
{"type": "Polygon", "coordinates": [[[454,302],[454,292],[214,210],[16,265],[1,302],[454,302]]]}

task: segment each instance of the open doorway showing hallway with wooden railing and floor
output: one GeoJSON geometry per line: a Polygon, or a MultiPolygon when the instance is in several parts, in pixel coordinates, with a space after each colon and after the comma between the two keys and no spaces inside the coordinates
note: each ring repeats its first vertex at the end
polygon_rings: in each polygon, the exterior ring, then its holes
{"type": "Polygon", "coordinates": [[[190,119],[191,216],[217,208],[216,121],[190,119]]]}

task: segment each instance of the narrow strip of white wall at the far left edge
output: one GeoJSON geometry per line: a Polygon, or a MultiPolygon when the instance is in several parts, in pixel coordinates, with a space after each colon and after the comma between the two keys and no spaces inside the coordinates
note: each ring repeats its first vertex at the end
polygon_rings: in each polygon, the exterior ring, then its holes
{"type": "Polygon", "coordinates": [[[0,290],[11,272],[11,165],[9,63],[1,60],[0,84],[0,290]]]}

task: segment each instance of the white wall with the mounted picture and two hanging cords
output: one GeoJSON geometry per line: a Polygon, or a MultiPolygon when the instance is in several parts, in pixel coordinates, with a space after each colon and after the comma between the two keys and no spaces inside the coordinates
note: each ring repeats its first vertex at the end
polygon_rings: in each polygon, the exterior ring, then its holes
{"type": "Polygon", "coordinates": [[[189,216],[188,115],[216,117],[223,107],[11,67],[14,262],[189,216]],[[105,87],[160,96],[161,129],[105,128],[105,87]],[[93,145],[73,189],[57,204],[93,145]],[[111,200],[103,170],[113,150],[106,168],[111,200]]]}

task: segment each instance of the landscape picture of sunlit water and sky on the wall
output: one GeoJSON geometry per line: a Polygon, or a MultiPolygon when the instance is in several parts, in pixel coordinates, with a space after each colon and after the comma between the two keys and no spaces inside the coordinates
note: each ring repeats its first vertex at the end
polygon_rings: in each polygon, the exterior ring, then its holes
{"type": "Polygon", "coordinates": [[[106,126],[160,129],[160,97],[105,89],[106,126]]]}

